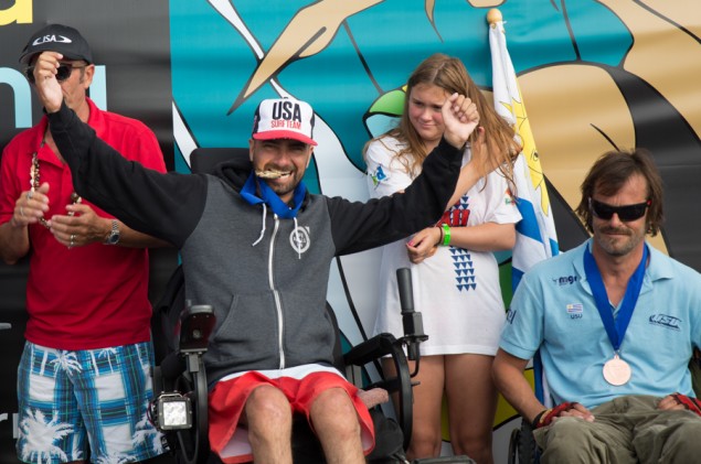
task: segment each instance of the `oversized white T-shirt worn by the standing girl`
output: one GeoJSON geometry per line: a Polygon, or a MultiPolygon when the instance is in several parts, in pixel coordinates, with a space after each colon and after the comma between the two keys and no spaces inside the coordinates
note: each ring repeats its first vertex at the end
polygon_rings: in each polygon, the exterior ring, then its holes
{"type": "MultiPolygon", "coordinates": [[[[406,188],[413,177],[394,158],[400,142],[390,137],[368,147],[368,185],[370,196],[381,197],[406,188]]],[[[466,149],[463,164],[470,159],[466,149]]],[[[418,173],[416,173],[417,175],[418,173]]],[[[513,203],[506,179],[498,172],[481,179],[444,215],[450,227],[475,226],[487,222],[514,224],[521,215],[513,203]]],[[[389,332],[403,335],[396,269],[410,268],[414,306],[422,312],[428,339],[421,344],[422,355],[497,353],[506,310],[499,284],[498,262],[492,252],[457,247],[438,247],[438,251],[419,265],[406,253],[407,239],[385,245],[380,270],[380,299],[373,334],[389,332]]]]}

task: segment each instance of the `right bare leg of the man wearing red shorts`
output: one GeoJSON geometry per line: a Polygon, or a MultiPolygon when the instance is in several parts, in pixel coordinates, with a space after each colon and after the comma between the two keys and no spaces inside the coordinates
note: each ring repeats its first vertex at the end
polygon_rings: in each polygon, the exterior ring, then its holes
{"type": "Polygon", "coordinates": [[[319,395],[309,416],[328,464],[365,462],[358,413],[344,390],[330,388],[319,395]]]}

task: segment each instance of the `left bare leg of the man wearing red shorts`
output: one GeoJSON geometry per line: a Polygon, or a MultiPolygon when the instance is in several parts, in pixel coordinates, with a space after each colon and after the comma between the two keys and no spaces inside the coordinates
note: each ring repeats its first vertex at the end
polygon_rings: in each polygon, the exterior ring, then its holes
{"type": "Polygon", "coordinates": [[[262,464],[291,464],[293,411],[275,387],[257,387],[246,400],[245,418],[253,458],[262,464]]]}

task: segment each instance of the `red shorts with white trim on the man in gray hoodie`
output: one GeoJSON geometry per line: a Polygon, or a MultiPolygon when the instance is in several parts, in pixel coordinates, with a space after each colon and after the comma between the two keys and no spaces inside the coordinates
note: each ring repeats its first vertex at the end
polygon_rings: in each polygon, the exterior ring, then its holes
{"type": "Polygon", "coordinates": [[[355,395],[358,388],[354,385],[331,371],[312,371],[302,374],[300,378],[287,377],[286,371],[282,374],[282,377],[269,378],[262,373],[249,371],[221,380],[214,386],[209,398],[210,446],[225,464],[253,460],[248,431],[237,424],[248,396],[262,385],[270,385],[283,391],[289,400],[293,413],[304,413],[308,421],[311,404],[321,392],[329,388],[344,389],[358,412],[364,454],[372,451],[375,439],[372,419],[365,404],[355,395]]]}

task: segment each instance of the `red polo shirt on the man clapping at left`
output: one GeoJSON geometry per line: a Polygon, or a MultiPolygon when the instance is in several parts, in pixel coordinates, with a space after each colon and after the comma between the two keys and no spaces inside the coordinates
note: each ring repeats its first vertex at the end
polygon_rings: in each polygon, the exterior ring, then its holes
{"type": "MultiPolygon", "coordinates": [[[[98,109],[88,99],[88,125],[125,158],[166,171],[153,132],[144,123],[98,109]]],[[[32,154],[39,150],[46,118],[18,134],[2,152],[0,224],[12,218],[21,192],[29,190],[32,154]]],[[[50,211],[66,214],[71,171],[44,145],[39,150],[40,180],[49,182],[50,211]]],[[[148,198],[144,198],[148,201],[148,198]]],[[[103,217],[111,217],[83,201],[103,217]]],[[[150,339],[148,251],[91,244],[68,249],[41,224],[29,227],[30,272],[26,283],[28,341],[57,349],[94,349],[150,339]]]]}

